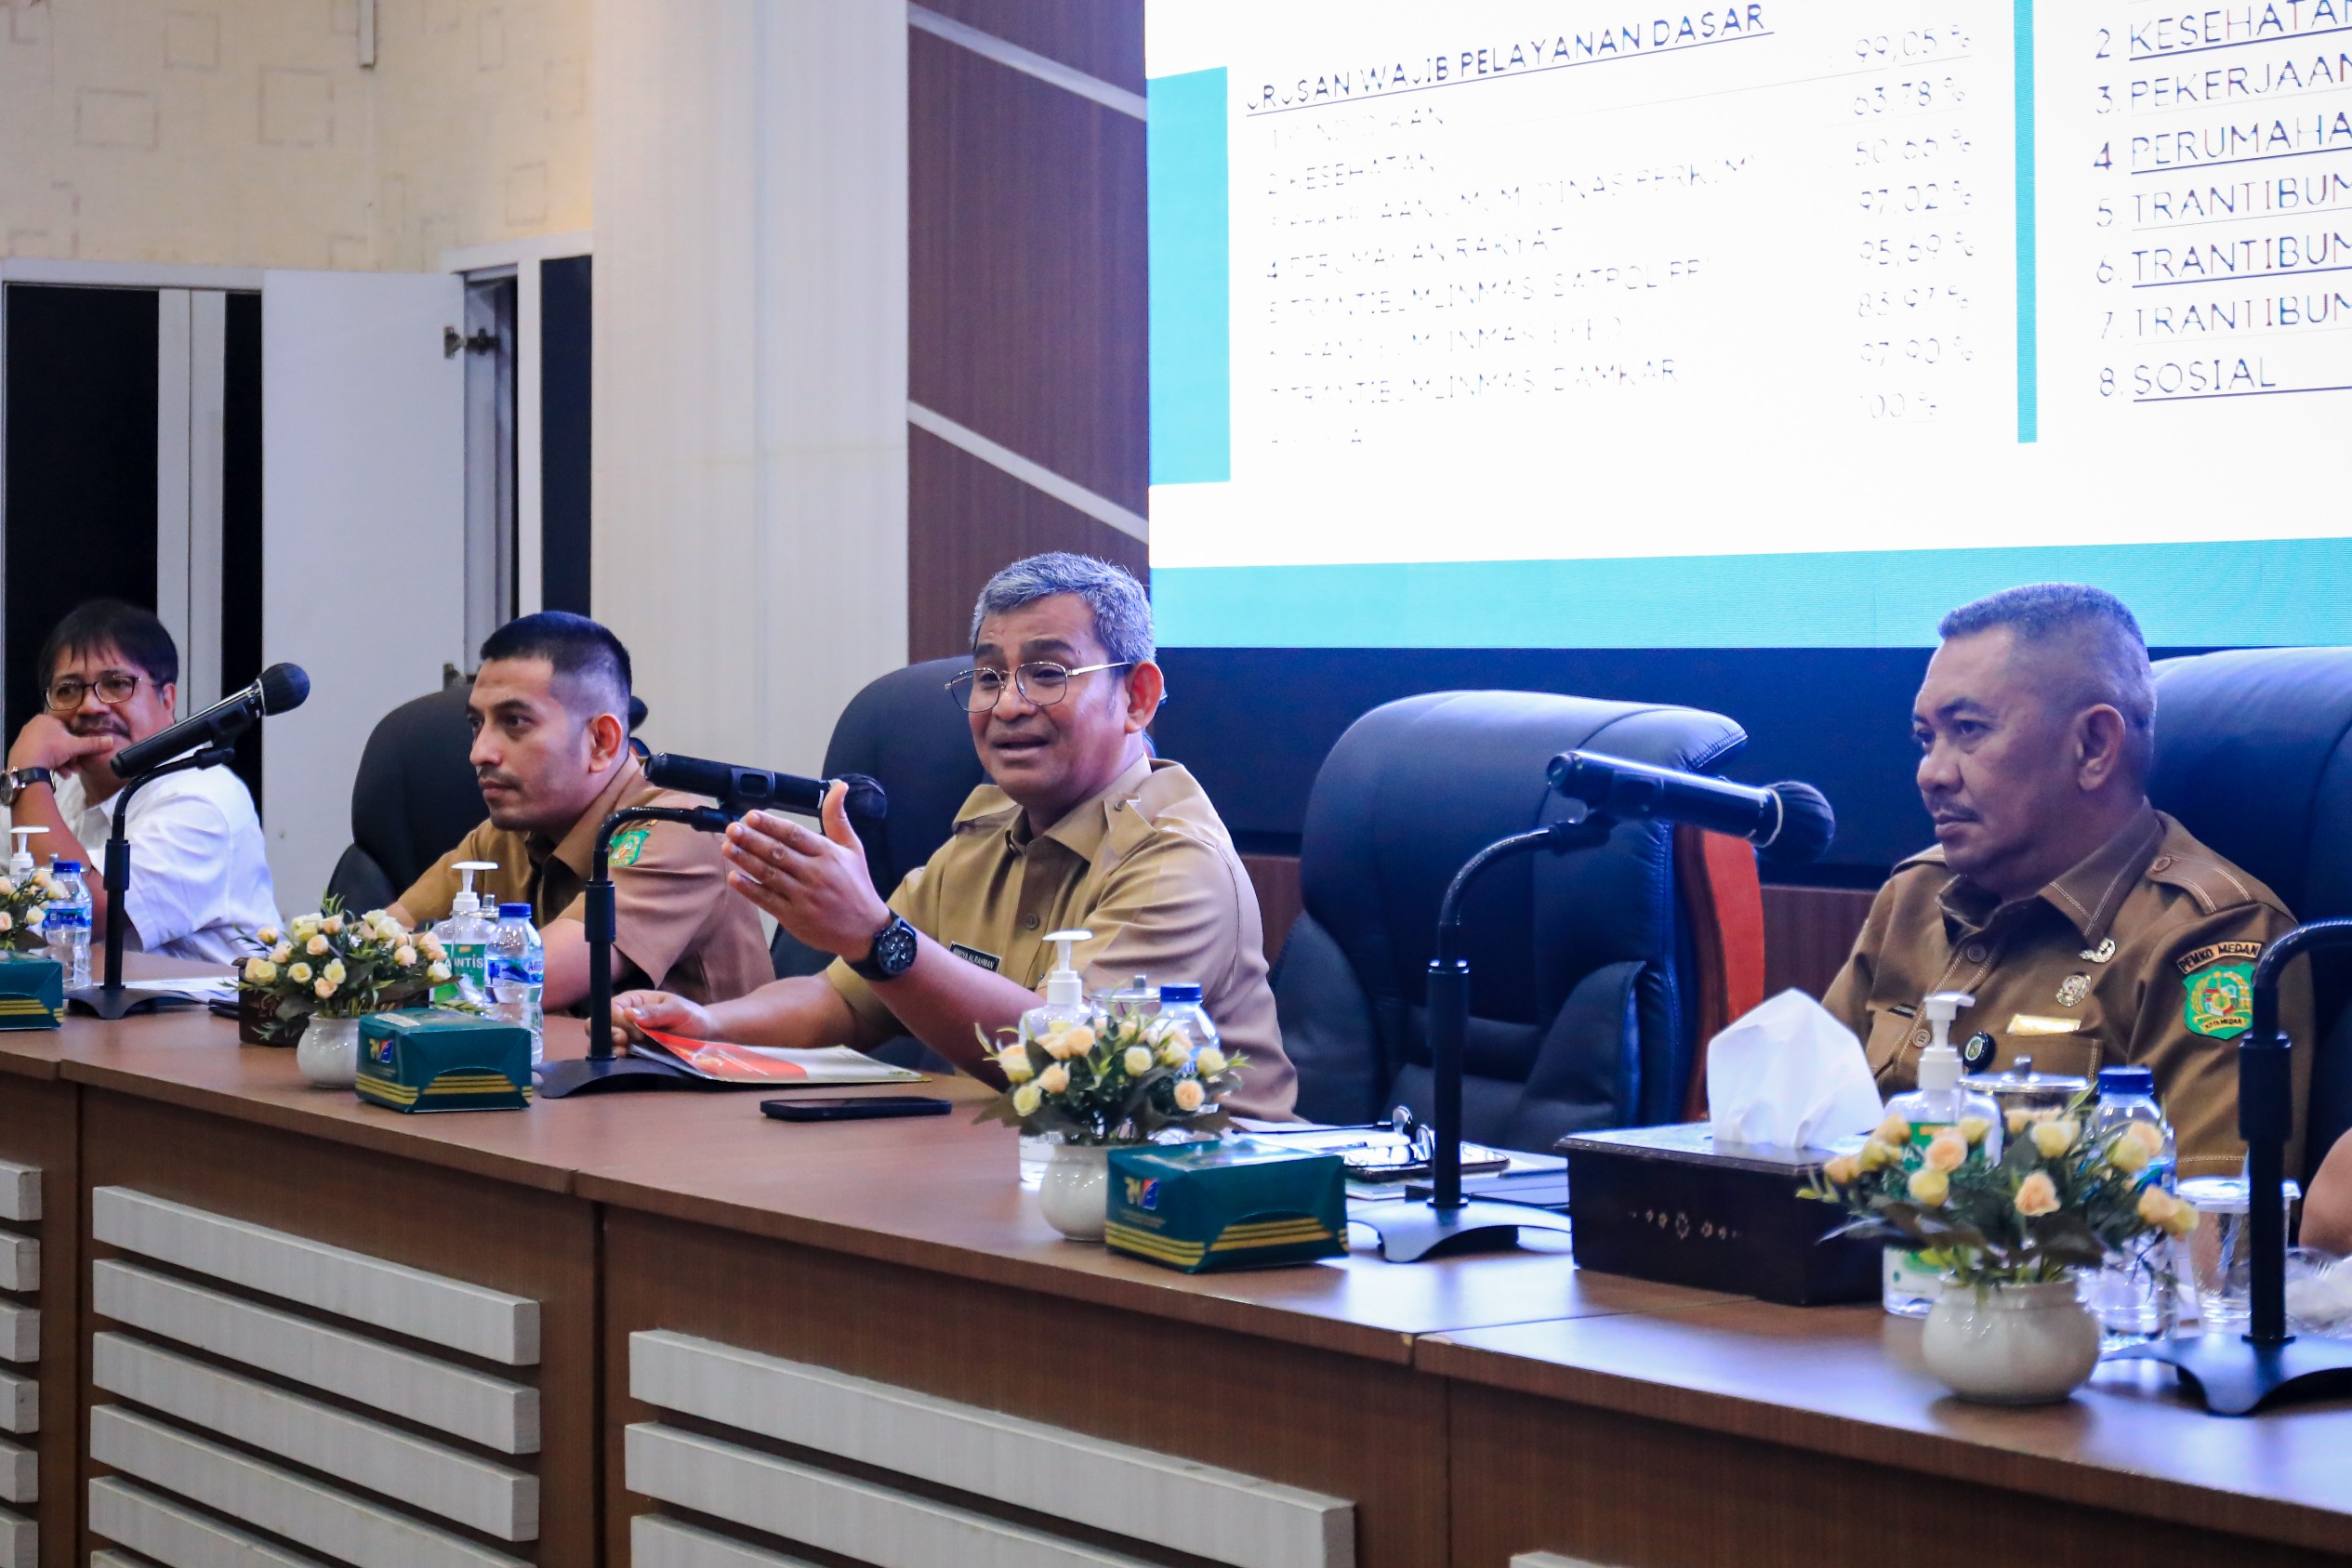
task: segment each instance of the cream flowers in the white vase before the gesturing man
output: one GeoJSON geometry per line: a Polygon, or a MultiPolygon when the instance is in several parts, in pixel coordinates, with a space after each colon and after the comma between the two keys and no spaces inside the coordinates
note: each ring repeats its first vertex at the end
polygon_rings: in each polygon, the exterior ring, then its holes
{"type": "Polygon", "coordinates": [[[1009,1088],[978,1119],[1061,1133],[1082,1147],[1148,1143],[1169,1128],[1218,1133],[1228,1126],[1221,1100],[1247,1065],[1240,1053],[1195,1046],[1181,1020],[1157,1013],[1096,1013],[1035,1037],[1025,1025],[1007,1034],[1002,1051],[981,1034],[1009,1088]]]}

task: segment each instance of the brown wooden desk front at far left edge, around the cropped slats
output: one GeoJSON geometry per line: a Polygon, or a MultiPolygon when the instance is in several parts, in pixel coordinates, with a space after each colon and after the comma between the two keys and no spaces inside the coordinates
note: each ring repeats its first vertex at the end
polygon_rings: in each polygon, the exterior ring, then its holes
{"type": "MultiPolygon", "coordinates": [[[[31,1030],[26,1030],[31,1032],[31,1030]]],[[[40,1526],[42,1568],[75,1563],[73,1519],[80,1490],[80,1441],[75,1436],[75,1389],[82,1385],[80,1338],[80,1229],[75,1215],[75,1171],[80,1166],[78,1093],[71,1084],[33,1074],[0,1074],[0,1159],[40,1171],[40,1220],[9,1222],[19,1234],[40,1239],[40,1291],[0,1293],[0,1300],[40,1309],[40,1363],[7,1363],[12,1373],[35,1373],[40,1380],[40,1432],[12,1436],[16,1446],[40,1455],[40,1502],[31,1514],[40,1526]]]]}

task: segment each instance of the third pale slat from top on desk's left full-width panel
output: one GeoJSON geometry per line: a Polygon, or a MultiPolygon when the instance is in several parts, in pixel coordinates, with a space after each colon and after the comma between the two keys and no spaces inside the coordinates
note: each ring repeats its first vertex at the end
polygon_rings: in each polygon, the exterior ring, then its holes
{"type": "Polygon", "coordinates": [[[539,1535],[536,1476],[428,1443],[365,1415],[346,1415],[120,1333],[89,1340],[89,1382],[485,1535],[539,1535]]]}

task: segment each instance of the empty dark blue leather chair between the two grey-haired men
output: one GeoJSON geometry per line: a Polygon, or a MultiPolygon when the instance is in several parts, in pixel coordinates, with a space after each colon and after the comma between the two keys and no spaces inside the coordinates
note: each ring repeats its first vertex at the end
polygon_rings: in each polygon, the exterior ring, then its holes
{"type": "MultiPolygon", "coordinates": [[[[1748,743],[1722,715],[1534,691],[1439,691],[1374,708],[1315,776],[1303,914],[1275,980],[1298,1114],[1430,1114],[1425,969],[1437,900],[1475,851],[1559,820],[1545,764],[1585,748],[1715,771],[1748,743]]],[[[1672,830],[1616,825],[1564,856],[1489,870],[1463,910],[1470,1138],[1672,1121],[1696,1053],[1696,973],[1672,830]]]]}

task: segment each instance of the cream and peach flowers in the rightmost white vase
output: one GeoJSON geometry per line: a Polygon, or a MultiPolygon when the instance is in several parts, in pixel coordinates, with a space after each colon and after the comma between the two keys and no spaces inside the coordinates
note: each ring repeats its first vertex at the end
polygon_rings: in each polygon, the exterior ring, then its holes
{"type": "Polygon", "coordinates": [[[2197,1211],[2147,1180],[2164,1135],[2131,1121],[2093,1138],[2089,1105],[2084,1093],[2056,1117],[2009,1112],[1999,1161],[1983,1159],[1985,1119],[1936,1131],[1910,1159],[1910,1121],[1886,1117],[1802,1197],[1853,1215],[1835,1234],[1907,1246],[1962,1286],[2053,1284],[2150,1232],[2194,1229],[2197,1211]]]}

